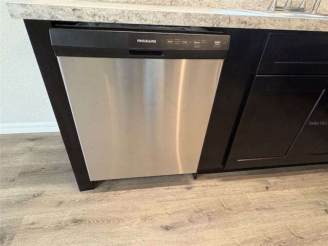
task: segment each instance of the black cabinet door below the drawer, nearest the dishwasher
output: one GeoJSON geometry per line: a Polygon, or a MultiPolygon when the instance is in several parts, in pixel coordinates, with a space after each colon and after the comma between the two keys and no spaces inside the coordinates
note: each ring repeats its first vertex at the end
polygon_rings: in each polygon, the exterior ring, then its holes
{"type": "Polygon", "coordinates": [[[224,169],[291,165],[325,89],[328,76],[256,76],[224,169]]]}

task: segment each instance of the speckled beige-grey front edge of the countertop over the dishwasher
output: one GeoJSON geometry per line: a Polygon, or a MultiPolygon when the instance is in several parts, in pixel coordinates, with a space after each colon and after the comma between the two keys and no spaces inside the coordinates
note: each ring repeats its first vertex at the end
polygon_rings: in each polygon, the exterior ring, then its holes
{"type": "MultiPolygon", "coordinates": [[[[272,29],[328,32],[328,20],[315,18],[228,15],[183,11],[76,7],[8,2],[12,18],[168,26],[199,26],[245,29],[272,29]]],[[[178,9],[178,8],[175,8],[178,9]]]]}

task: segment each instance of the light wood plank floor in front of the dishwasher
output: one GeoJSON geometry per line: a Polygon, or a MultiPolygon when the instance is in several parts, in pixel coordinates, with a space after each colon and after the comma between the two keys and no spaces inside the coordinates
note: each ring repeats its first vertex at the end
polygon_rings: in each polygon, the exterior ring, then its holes
{"type": "Polygon", "coordinates": [[[328,165],[98,182],[59,133],[1,136],[1,245],[328,245],[328,165]]]}

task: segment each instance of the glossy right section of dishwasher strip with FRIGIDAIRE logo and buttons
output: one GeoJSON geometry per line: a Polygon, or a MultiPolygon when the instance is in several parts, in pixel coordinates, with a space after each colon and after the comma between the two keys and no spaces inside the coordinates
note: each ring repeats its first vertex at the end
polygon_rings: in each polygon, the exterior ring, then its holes
{"type": "Polygon", "coordinates": [[[129,33],[129,48],[160,50],[228,50],[229,35],[129,33]]]}

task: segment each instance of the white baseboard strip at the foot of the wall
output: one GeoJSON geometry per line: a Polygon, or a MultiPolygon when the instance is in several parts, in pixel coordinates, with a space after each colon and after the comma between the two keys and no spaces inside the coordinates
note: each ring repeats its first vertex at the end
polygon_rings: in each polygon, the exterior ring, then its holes
{"type": "Polygon", "coordinates": [[[0,134],[59,132],[57,122],[0,124],[0,134]]]}

